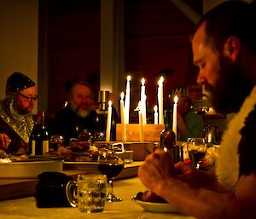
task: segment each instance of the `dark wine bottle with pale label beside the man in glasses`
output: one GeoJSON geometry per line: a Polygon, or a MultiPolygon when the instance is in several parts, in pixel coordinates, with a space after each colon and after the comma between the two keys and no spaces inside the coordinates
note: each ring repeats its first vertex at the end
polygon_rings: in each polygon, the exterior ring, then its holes
{"type": "Polygon", "coordinates": [[[43,155],[49,152],[49,133],[44,124],[44,112],[38,116],[29,138],[29,152],[32,155],[43,155]]]}

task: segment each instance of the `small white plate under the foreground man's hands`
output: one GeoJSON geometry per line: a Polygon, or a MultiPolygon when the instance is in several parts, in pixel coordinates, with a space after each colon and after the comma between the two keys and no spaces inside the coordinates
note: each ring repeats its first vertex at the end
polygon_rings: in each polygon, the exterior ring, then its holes
{"type": "Polygon", "coordinates": [[[131,200],[136,202],[137,205],[142,206],[144,210],[148,210],[151,212],[159,212],[159,213],[177,213],[178,212],[172,205],[168,203],[140,201],[137,198],[134,198],[131,200]]]}

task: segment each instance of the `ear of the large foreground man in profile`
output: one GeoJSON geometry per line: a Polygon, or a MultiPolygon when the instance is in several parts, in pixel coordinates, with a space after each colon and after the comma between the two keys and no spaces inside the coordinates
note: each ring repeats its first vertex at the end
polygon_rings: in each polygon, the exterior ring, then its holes
{"type": "Polygon", "coordinates": [[[235,62],[240,48],[240,40],[237,37],[229,37],[224,43],[224,56],[231,62],[235,62]]]}

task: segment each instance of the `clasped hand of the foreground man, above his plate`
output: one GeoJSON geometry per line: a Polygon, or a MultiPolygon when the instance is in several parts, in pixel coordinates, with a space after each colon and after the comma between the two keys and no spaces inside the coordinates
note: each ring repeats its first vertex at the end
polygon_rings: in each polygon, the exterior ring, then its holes
{"type": "Polygon", "coordinates": [[[143,185],[154,192],[157,185],[175,176],[172,158],[163,150],[155,150],[139,167],[138,176],[143,185]]]}

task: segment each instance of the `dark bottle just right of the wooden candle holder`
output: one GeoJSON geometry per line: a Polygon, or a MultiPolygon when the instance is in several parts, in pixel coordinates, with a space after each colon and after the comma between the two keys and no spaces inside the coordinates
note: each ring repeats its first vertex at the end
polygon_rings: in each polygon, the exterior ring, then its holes
{"type": "Polygon", "coordinates": [[[172,131],[172,110],[165,110],[165,129],[160,133],[160,148],[171,150],[176,145],[176,135],[172,131]]]}

